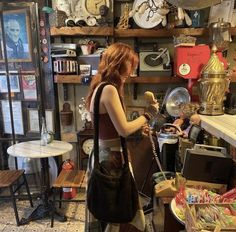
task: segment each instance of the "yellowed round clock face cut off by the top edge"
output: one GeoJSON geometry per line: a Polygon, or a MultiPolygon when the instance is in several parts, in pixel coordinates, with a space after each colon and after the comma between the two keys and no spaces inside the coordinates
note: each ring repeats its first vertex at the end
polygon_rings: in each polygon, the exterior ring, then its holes
{"type": "Polygon", "coordinates": [[[89,15],[98,16],[100,15],[100,6],[105,5],[109,7],[109,1],[110,0],[84,0],[84,8],[89,15]]]}

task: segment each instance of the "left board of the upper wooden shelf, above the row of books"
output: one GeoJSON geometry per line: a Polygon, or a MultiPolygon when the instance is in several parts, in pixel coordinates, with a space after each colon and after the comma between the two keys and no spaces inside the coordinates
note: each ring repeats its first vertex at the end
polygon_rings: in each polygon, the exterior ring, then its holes
{"type": "Polygon", "coordinates": [[[51,36],[112,36],[113,27],[51,27],[51,36]]]}

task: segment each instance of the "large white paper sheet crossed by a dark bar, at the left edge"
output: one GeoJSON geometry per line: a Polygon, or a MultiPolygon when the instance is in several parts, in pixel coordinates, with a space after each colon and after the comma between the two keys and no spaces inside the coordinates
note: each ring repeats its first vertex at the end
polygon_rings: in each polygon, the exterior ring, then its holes
{"type": "MultiPolygon", "coordinates": [[[[12,134],[9,101],[2,100],[1,105],[2,105],[2,117],[3,117],[4,132],[6,134],[12,134]]],[[[14,129],[15,129],[15,134],[24,135],[21,101],[12,101],[12,111],[13,111],[13,118],[14,118],[13,125],[14,125],[14,129]]]]}

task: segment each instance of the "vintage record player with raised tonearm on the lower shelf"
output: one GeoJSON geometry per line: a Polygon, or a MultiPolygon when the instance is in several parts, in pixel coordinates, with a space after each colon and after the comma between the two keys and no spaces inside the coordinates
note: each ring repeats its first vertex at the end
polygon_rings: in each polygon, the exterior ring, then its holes
{"type": "Polygon", "coordinates": [[[139,76],[171,76],[170,56],[167,48],[157,52],[139,53],[139,76]]]}

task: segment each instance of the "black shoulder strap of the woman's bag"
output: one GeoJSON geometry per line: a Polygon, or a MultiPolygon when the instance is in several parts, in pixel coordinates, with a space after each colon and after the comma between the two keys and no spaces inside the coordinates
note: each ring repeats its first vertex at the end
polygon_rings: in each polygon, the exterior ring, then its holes
{"type": "MultiPolygon", "coordinates": [[[[98,139],[99,139],[99,118],[100,118],[99,102],[100,102],[102,90],[106,85],[112,85],[112,84],[109,82],[102,83],[98,87],[97,92],[95,94],[95,98],[94,98],[94,109],[93,109],[93,111],[94,111],[93,112],[93,114],[94,114],[94,166],[99,165],[99,142],[98,142],[98,139]]],[[[121,147],[122,147],[125,165],[128,165],[129,162],[128,162],[128,152],[127,152],[126,140],[124,137],[120,136],[120,141],[121,141],[121,147]]]]}

